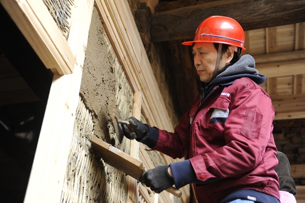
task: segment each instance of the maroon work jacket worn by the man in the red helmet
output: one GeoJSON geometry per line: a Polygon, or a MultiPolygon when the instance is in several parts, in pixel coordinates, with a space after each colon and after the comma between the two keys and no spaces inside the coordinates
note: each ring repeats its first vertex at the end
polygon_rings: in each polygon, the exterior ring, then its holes
{"type": "Polygon", "coordinates": [[[267,93],[242,77],[230,85],[214,86],[199,104],[197,96],[174,133],[159,129],[153,150],[173,158],[189,154],[198,180],[218,179],[194,184],[198,202],[220,202],[240,189],[279,199],[279,180],[273,169],[278,165],[272,135],[275,110],[267,93]]]}

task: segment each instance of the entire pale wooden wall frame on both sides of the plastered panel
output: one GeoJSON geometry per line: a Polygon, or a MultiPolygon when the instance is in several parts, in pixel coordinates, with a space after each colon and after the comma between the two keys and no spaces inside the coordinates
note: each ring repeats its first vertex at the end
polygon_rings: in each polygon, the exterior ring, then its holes
{"type": "MultiPolygon", "coordinates": [[[[94,3],[133,91],[142,95],[141,109],[147,123],[173,131],[127,0],[75,0],[68,41],[52,17],[45,15],[49,11],[42,1],[0,0],[0,3],[44,65],[54,73],[25,203],[60,201],[94,3]]],[[[134,152],[135,156],[139,152],[134,152]]],[[[141,150],[141,156],[148,157],[145,153],[144,149],[141,150]]],[[[167,164],[175,162],[169,157],[165,161],[167,164]]],[[[147,169],[153,167],[151,163],[143,164],[147,169]]],[[[140,190],[147,189],[140,187],[140,190]]],[[[189,190],[180,190],[181,198],[188,198],[189,190]]],[[[166,192],[156,194],[147,202],[157,201],[172,202],[173,195],[166,192]]]]}

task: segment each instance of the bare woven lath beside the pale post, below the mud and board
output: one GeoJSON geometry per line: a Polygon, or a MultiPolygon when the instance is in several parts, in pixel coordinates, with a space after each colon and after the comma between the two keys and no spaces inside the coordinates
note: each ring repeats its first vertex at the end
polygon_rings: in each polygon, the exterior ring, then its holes
{"type": "Polygon", "coordinates": [[[87,139],[92,135],[93,119],[80,98],[61,202],[127,202],[125,173],[96,156],[87,139]]]}

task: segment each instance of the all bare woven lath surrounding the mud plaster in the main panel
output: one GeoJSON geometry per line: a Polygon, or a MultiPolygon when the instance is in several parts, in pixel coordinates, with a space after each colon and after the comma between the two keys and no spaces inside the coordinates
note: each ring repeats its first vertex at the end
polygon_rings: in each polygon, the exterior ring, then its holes
{"type": "MultiPolygon", "coordinates": [[[[121,119],[126,119],[132,116],[133,91],[105,31],[103,35],[116,77],[116,100],[121,119]]],[[[88,136],[94,134],[93,118],[81,98],[78,105],[62,202],[125,203],[127,202],[128,176],[99,160],[95,155],[95,151],[87,139],[88,136]]],[[[109,134],[111,138],[116,139],[115,147],[130,153],[129,139],[123,139],[123,142],[118,144],[112,125],[109,127],[109,134]]]]}

